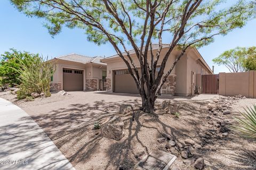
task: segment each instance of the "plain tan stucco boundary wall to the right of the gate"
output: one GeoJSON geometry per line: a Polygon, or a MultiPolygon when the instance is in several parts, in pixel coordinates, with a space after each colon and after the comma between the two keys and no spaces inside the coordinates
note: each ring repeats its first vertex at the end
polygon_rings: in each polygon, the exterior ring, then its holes
{"type": "Polygon", "coordinates": [[[220,73],[219,94],[222,96],[243,95],[256,98],[256,71],[220,73]]]}

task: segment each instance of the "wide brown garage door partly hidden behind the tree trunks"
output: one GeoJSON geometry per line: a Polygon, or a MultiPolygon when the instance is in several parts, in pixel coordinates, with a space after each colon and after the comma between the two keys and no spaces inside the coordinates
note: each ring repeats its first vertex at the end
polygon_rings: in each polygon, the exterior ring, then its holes
{"type": "Polygon", "coordinates": [[[128,70],[114,71],[114,92],[139,93],[135,81],[128,70]]]}

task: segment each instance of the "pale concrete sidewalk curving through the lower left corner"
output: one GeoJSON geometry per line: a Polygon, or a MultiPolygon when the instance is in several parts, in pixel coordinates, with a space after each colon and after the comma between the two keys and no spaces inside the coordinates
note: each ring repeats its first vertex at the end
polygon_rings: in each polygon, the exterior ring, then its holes
{"type": "Polygon", "coordinates": [[[0,98],[0,169],[75,168],[21,108],[0,98]]]}

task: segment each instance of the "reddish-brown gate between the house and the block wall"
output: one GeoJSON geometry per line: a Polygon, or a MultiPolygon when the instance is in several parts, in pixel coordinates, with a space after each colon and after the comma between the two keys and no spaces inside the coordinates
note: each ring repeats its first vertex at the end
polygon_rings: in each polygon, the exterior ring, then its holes
{"type": "Polygon", "coordinates": [[[202,94],[219,94],[219,74],[202,75],[202,94]]]}

